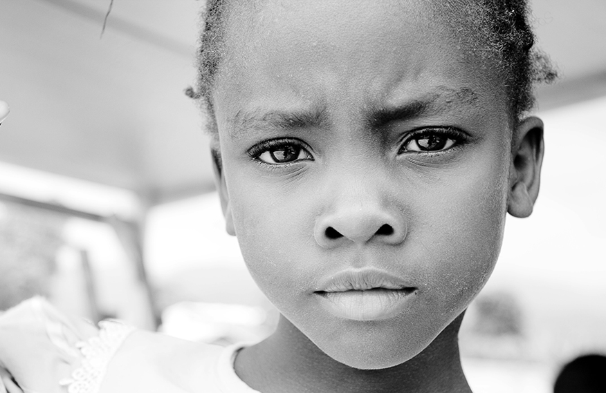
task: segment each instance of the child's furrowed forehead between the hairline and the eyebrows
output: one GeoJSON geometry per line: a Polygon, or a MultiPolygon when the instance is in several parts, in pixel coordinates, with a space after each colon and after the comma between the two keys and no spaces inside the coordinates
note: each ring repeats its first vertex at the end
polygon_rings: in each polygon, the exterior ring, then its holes
{"type": "Polygon", "coordinates": [[[437,17],[443,11],[416,0],[241,2],[226,29],[215,102],[235,119],[272,107],[360,113],[500,96],[494,72],[437,17]]]}

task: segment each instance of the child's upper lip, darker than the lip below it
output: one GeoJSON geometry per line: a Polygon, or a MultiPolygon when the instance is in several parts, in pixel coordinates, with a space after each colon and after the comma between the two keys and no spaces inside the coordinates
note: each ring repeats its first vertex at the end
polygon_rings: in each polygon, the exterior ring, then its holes
{"type": "Polygon", "coordinates": [[[316,292],[366,291],[369,289],[413,290],[416,289],[401,277],[387,271],[365,268],[339,271],[321,280],[316,292]]]}

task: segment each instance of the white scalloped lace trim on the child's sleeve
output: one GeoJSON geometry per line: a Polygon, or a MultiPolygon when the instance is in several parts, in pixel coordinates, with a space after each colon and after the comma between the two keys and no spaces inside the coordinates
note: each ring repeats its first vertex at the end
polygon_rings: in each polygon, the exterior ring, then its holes
{"type": "Polygon", "coordinates": [[[107,365],[134,327],[115,320],[99,323],[99,335],[76,343],[82,353],[82,365],[64,378],[59,385],[66,386],[68,393],[98,393],[107,371],[107,365]]]}

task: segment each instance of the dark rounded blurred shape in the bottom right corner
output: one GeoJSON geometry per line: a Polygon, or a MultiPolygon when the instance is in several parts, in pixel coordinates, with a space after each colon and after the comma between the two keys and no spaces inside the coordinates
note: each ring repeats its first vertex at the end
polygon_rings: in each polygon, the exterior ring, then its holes
{"type": "Polygon", "coordinates": [[[605,393],[606,356],[591,354],[579,356],[560,371],[554,393],[605,393]]]}

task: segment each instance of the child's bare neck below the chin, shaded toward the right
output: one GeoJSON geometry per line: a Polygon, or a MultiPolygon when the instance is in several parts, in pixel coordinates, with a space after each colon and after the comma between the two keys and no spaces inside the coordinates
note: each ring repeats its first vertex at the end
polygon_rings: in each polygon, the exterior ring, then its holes
{"type": "Polygon", "coordinates": [[[381,370],[358,370],[324,354],[281,317],[276,332],[242,349],[235,369],[262,393],[471,392],[461,370],[458,332],[463,314],[414,358],[381,370]]]}

